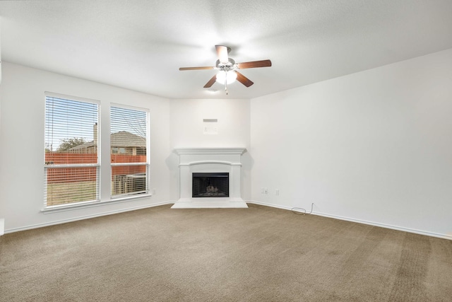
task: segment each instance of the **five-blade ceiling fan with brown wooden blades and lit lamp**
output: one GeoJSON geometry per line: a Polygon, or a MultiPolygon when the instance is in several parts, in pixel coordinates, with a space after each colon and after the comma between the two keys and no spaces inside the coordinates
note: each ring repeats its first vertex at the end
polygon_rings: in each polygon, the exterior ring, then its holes
{"type": "Polygon", "coordinates": [[[215,45],[215,49],[217,50],[218,60],[215,63],[215,66],[201,66],[201,67],[181,67],[179,70],[201,70],[201,69],[218,69],[218,74],[210,79],[204,88],[210,88],[215,81],[222,83],[225,85],[225,91],[227,94],[227,84],[234,82],[236,79],[240,83],[244,84],[244,86],[249,87],[253,85],[253,81],[246,78],[243,74],[239,73],[237,69],[246,69],[246,68],[256,68],[256,67],[270,67],[270,60],[262,60],[262,61],[253,61],[253,62],[244,62],[244,63],[235,63],[234,59],[228,57],[228,53],[231,51],[230,47],[224,45],[215,45]]]}

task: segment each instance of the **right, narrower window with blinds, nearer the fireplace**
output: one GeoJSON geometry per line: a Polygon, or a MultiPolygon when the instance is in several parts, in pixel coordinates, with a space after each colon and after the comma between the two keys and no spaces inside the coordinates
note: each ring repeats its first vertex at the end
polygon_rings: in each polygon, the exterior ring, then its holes
{"type": "Polygon", "coordinates": [[[112,197],[148,192],[148,112],[110,108],[112,197]]]}

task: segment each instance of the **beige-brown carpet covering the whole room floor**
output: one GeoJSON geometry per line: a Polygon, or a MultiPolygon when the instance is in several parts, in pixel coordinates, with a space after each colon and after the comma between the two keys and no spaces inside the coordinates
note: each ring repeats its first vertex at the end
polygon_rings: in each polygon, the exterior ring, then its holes
{"type": "Polygon", "coordinates": [[[452,301],[452,240],[249,204],[0,237],[0,301],[452,301]]]}

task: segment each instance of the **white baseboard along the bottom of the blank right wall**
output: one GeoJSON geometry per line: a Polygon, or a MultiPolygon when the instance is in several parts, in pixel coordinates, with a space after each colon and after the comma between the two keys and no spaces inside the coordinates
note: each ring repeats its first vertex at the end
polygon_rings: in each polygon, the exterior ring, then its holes
{"type": "MultiPolygon", "coordinates": [[[[292,210],[293,209],[292,207],[284,207],[284,206],[280,206],[278,204],[268,204],[266,202],[257,202],[255,200],[246,200],[246,202],[250,202],[252,204],[260,204],[261,206],[266,206],[266,207],[274,207],[274,208],[278,208],[278,209],[285,209],[285,210],[292,210]]],[[[306,209],[306,210],[308,212],[310,211],[310,209],[306,209]]],[[[452,236],[448,235],[448,234],[439,234],[439,233],[432,233],[432,232],[427,232],[427,231],[420,231],[420,230],[416,230],[416,229],[413,229],[413,228],[403,228],[401,226],[392,226],[390,224],[377,223],[377,222],[374,222],[374,221],[366,221],[366,220],[361,220],[361,219],[353,219],[353,218],[349,218],[349,217],[331,215],[331,214],[320,213],[320,212],[316,212],[316,211],[313,211],[312,214],[313,215],[317,215],[317,216],[323,216],[323,217],[328,217],[328,218],[333,218],[333,219],[344,220],[344,221],[351,221],[351,222],[356,222],[356,223],[368,224],[369,226],[379,226],[381,228],[391,228],[392,230],[397,230],[397,231],[404,231],[404,232],[408,232],[408,233],[415,233],[415,234],[420,234],[420,235],[425,235],[425,236],[431,236],[431,237],[437,237],[437,238],[444,238],[444,239],[452,240],[452,236]]]]}

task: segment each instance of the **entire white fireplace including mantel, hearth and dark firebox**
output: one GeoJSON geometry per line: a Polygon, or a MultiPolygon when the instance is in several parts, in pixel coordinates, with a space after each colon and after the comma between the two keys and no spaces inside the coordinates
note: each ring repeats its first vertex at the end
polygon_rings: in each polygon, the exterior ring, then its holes
{"type": "Polygon", "coordinates": [[[242,199],[242,153],[244,148],[174,149],[179,155],[179,200],[172,209],[247,208],[242,199]],[[218,179],[207,180],[206,177],[218,179]],[[228,184],[220,185],[227,175],[228,184]],[[194,180],[201,177],[201,179],[194,180]],[[201,192],[194,195],[194,185],[201,192]],[[227,192],[226,192],[227,190],[227,192]]]}

